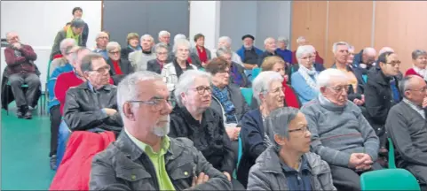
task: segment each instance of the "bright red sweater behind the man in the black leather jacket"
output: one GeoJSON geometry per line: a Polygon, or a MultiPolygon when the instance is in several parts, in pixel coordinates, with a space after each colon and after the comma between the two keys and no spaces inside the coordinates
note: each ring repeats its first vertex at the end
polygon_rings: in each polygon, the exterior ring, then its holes
{"type": "MultiPolygon", "coordinates": [[[[60,103],[60,114],[63,114],[65,97],[67,95],[67,90],[72,87],[76,87],[82,84],[84,81],[77,78],[75,72],[61,73],[58,76],[58,79],[55,83],[55,96],[60,103]]],[[[113,79],[110,78],[110,84],[114,84],[113,79]]]]}

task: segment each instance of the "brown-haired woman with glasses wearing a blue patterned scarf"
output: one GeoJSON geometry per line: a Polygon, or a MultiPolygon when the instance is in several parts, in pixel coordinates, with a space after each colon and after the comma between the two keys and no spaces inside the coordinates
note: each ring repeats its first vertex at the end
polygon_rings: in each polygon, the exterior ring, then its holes
{"type": "Polygon", "coordinates": [[[241,95],[241,88],[229,83],[230,65],[224,59],[214,57],[206,66],[206,72],[212,75],[210,87],[212,88],[213,99],[210,102],[210,108],[222,116],[225,131],[232,141],[234,154],[237,154],[241,118],[249,111],[248,103],[241,95]]]}

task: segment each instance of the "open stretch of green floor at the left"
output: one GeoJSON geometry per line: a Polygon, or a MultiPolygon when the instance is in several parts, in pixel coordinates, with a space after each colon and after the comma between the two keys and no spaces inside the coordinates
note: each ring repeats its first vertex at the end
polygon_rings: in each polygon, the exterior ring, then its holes
{"type": "Polygon", "coordinates": [[[35,111],[28,120],[15,111],[1,111],[1,190],[47,190],[55,174],[49,167],[49,116],[35,111]]]}

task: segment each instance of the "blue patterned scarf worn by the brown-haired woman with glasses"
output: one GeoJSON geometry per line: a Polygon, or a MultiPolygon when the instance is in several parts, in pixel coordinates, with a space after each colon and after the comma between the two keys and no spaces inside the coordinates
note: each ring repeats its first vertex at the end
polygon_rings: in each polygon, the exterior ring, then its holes
{"type": "Polygon", "coordinates": [[[212,85],[212,94],[217,97],[219,102],[224,106],[225,111],[225,123],[237,123],[235,117],[236,109],[232,101],[228,98],[228,88],[222,90],[212,85]]]}

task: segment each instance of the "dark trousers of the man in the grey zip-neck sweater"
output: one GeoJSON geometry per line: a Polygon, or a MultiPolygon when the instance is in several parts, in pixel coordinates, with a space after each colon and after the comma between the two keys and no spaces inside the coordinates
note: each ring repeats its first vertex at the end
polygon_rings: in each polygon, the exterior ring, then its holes
{"type": "MultiPolygon", "coordinates": [[[[360,191],[360,174],[363,172],[355,172],[353,169],[343,166],[329,165],[329,167],[332,173],[332,180],[334,180],[334,186],[338,191],[360,191]]],[[[380,164],[372,164],[372,170],[381,169],[383,167],[380,164]]]]}

